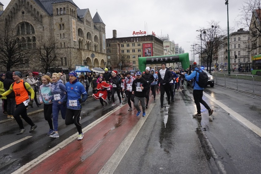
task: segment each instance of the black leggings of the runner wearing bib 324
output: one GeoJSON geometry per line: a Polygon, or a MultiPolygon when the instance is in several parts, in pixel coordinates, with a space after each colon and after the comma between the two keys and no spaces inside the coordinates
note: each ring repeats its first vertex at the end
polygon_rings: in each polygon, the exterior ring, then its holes
{"type": "Polygon", "coordinates": [[[81,131],[81,124],[80,124],[80,115],[81,115],[81,109],[76,110],[76,109],[66,109],[66,114],[65,114],[65,124],[70,125],[70,124],[75,124],[77,131],[79,134],[82,133],[81,131]],[[73,119],[74,117],[74,119],[73,119]]]}

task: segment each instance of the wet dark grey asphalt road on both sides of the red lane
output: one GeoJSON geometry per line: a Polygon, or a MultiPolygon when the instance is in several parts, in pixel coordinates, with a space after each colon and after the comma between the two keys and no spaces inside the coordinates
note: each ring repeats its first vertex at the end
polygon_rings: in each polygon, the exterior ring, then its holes
{"type": "MultiPolygon", "coordinates": [[[[261,128],[260,98],[248,98],[248,94],[216,86],[207,87],[204,92],[261,128]]],[[[205,95],[203,99],[214,109],[212,122],[203,106],[202,118],[192,118],[196,109],[190,87],[184,85],[182,91],[176,91],[175,103],[164,105],[164,109],[159,109],[157,99],[114,173],[261,173],[260,136],[205,95]]],[[[100,109],[100,102],[91,97],[84,105],[83,127],[112,109],[100,109]]],[[[31,118],[38,125],[36,131],[29,133],[30,126],[25,124],[27,130],[19,136],[15,121],[0,125],[0,147],[32,136],[0,151],[0,173],[15,171],[77,133],[74,124],[66,126],[59,117],[60,138],[50,139],[43,113],[31,118]]]]}

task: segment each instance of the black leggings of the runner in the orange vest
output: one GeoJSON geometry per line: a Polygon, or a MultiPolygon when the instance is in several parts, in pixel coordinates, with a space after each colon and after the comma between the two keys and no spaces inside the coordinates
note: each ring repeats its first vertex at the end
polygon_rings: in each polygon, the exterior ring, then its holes
{"type": "Polygon", "coordinates": [[[27,115],[27,107],[28,106],[25,106],[24,103],[20,103],[19,105],[16,105],[16,109],[13,113],[13,117],[19,125],[20,129],[24,129],[24,124],[22,119],[20,118],[20,115],[26,121],[26,123],[30,124],[31,126],[34,126],[34,123],[32,122],[31,118],[29,118],[27,115]]]}

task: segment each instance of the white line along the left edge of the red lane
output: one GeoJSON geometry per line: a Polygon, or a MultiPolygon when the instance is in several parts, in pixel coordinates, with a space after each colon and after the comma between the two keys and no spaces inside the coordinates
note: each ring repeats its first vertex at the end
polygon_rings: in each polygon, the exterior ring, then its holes
{"type": "MultiPolygon", "coordinates": [[[[108,112],[107,114],[105,114],[104,116],[100,117],[98,120],[94,121],[93,123],[89,124],[88,126],[86,126],[85,128],[82,129],[82,133],[87,132],[88,130],[90,130],[91,128],[93,128],[96,124],[100,123],[102,120],[104,120],[105,118],[107,118],[108,116],[110,116],[110,114],[112,114],[113,112],[115,112],[116,110],[118,110],[119,108],[121,108],[122,106],[118,106],[115,109],[113,109],[112,111],[108,112]]],[[[34,160],[28,162],[27,164],[23,165],[22,167],[20,167],[19,169],[17,169],[16,171],[14,171],[12,174],[21,174],[21,173],[25,173],[28,170],[30,170],[31,168],[33,168],[34,166],[38,165],[41,161],[43,161],[44,159],[46,159],[47,157],[51,156],[52,154],[54,154],[55,152],[57,152],[58,150],[62,149],[63,147],[65,147],[67,144],[71,143],[72,141],[74,141],[76,138],[78,137],[78,133],[77,135],[72,135],[69,138],[65,139],[64,141],[62,141],[61,143],[57,144],[55,147],[51,148],[50,150],[48,150],[47,152],[41,154],[39,157],[35,158],[34,160]]]]}

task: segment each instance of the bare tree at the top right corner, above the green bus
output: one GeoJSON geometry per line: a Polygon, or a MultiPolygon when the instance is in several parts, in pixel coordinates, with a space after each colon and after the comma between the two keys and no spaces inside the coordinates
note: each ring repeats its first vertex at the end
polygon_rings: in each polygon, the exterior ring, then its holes
{"type": "MultiPolygon", "coordinates": [[[[239,25],[244,28],[249,28],[251,40],[250,51],[261,47],[261,1],[260,0],[246,0],[240,9],[240,20],[237,21],[239,25]]],[[[247,46],[246,46],[247,47],[247,46]]]]}

